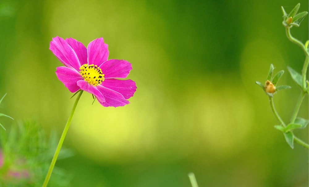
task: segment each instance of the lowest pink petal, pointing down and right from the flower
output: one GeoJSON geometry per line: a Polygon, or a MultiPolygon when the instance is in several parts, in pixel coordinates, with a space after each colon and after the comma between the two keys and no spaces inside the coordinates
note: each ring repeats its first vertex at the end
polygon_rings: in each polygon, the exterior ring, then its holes
{"type": "Polygon", "coordinates": [[[96,87],[105,98],[105,102],[99,101],[104,107],[120,107],[130,103],[128,100],[125,100],[121,93],[118,93],[117,91],[106,88],[102,86],[102,84],[96,87]]]}

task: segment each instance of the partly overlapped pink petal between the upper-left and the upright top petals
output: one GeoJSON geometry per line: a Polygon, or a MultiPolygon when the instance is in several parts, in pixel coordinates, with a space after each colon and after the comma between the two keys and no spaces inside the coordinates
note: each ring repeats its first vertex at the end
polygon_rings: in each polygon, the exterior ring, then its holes
{"type": "Polygon", "coordinates": [[[65,41],[72,47],[74,52],[76,53],[80,66],[83,64],[87,64],[87,49],[83,43],[78,42],[74,38],[67,38],[65,41]]]}

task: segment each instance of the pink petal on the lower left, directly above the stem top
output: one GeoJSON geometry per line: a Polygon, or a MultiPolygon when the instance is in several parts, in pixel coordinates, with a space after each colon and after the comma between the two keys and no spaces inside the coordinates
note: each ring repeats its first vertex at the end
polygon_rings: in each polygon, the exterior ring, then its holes
{"type": "Polygon", "coordinates": [[[79,90],[77,81],[83,80],[84,78],[78,71],[65,66],[57,67],[56,69],[58,79],[70,90],[70,92],[79,90]]]}

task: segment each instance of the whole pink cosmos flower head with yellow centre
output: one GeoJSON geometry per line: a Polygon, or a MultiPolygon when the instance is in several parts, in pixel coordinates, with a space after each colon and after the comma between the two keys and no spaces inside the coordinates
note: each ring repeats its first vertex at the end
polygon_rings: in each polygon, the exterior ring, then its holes
{"type": "Polygon", "coordinates": [[[108,45],[103,38],[87,48],[73,38],[55,37],[49,49],[65,65],[57,67],[58,79],[71,91],[79,89],[93,94],[104,107],[124,106],[136,91],[133,80],[126,78],[132,69],[126,60],[108,60],[108,45]]]}

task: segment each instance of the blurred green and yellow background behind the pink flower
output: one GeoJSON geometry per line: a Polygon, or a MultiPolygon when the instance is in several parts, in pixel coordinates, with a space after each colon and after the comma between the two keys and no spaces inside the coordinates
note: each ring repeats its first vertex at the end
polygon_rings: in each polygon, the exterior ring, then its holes
{"type": "MultiPolygon", "coordinates": [[[[298,1],[308,11],[308,1],[298,1]]],[[[52,37],[85,46],[103,37],[110,59],[132,63],[137,91],[131,104],[104,108],[84,93],[65,147],[75,156],[57,162],[71,186],[189,187],[308,186],[308,150],[292,150],[264,82],[271,63],[285,70],[275,97],[286,122],[300,90],[286,66],[301,71],[305,55],[282,26],[297,2],[281,1],[0,1],[1,111],[34,119],[61,134],[72,93],[54,71],[52,37]]],[[[308,16],[292,35],[308,39],[308,16]]],[[[308,118],[308,98],[299,116],[308,118]]],[[[308,127],[295,131],[308,142],[308,127]]]]}

